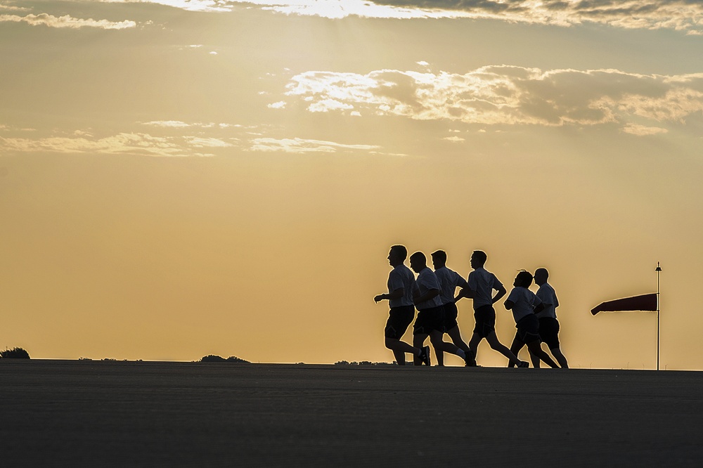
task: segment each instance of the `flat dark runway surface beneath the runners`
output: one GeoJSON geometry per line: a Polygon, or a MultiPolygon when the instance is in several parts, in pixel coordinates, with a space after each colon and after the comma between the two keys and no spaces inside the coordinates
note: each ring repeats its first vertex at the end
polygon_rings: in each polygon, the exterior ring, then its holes
{"type": "Polygon", "coordinates": [[[703,466],[703,372],[0,360],[8,467],[703,466]]]}

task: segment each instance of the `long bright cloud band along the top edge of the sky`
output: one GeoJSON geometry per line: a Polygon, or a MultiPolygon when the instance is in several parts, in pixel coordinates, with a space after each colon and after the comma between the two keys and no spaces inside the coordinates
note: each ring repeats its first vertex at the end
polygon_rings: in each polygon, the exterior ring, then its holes
{"type": "Polygon", "coordinates": [[[258,6],[287,15],[339,19],[471,18],[569,27],[586,22],[628,29],[703,33],[703,5],[694,0],[105,0],[148,2],[191,11],[258,6]]]}

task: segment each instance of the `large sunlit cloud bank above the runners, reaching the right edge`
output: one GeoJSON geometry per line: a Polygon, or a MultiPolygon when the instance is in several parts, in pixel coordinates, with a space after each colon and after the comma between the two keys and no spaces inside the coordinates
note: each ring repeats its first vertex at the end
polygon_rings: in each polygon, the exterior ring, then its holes
{"type": "Polygon", "coordinates": [[[624,124],[633,117],[675,124],[703,112],[703,74],[543,71],[508,65],[466,74],[312,71],[292,77],[286,89],[286,95],[299,98],[309,112],[466,124],[624,124]]]}

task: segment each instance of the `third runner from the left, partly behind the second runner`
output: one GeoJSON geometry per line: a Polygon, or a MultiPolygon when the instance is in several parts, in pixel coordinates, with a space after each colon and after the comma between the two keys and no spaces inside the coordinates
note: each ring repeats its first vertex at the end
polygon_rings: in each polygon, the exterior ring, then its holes
{"type": "MultiPolygon", "coordinates": [[[[457,309],[454,294],[457,287],[464,288],[467,286],[467,282],[461,278],[459,273],[446,267],[446,252],[444,250],[432,253],[432,266],[434,266],[434,274],[437,275],[439,281],[439,300],[444,308],[444,332],[449,334],[453,344],[469,356],[468,359],[465,359],[466,365],[475,366],[476,360],[473,358],[469,345],[461,339],[459,324],[456,321],[457,309]]],[[[442,353],[437,353],[437,364],[444,364],[442,353]]]]}

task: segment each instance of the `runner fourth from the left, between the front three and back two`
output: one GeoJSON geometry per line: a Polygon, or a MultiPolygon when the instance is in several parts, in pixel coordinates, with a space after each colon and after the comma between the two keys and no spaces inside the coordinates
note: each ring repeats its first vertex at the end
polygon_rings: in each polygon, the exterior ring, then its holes
{"type": "Polygon", "coordinates": [[[511,353],[510,349],[498,341],[498,335],[496,335],[496,311],[493,308],[493,304],[505,296],[507,291],[505,291],[503,283],[498,281],[496,275],[486,271],[484,268],[486,259],[488,259],[486,252],[481,250],[475,250],[471,254],[470,263],[474,271],[469,273],[468,287],[461,290],[456,297],[456,300],[462,297],[470,297],[474,301],[476,325],[469,342],[469,348],[473,355],[476,356],[478,346],[481,340],[485,338],[491,348],[508,358],[512,365],[527,368],[529,367],[527,361],[515,357],[515,354],[511,353]],[[494,290],[496,291],[495,296],[493,295],[494,290]]]}

